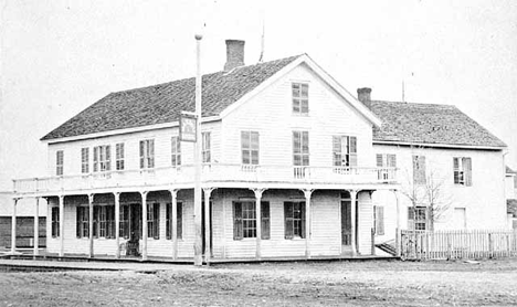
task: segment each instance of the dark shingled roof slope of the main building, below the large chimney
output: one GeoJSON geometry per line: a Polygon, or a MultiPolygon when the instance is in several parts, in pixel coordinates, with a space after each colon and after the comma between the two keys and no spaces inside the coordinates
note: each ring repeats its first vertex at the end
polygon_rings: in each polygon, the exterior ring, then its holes
{"type": "MultiPolygon", "coordinates": [[[[202,116],[219,115],[297,57],[202,76],[202,116]]],[[[42,140],[172,123],[194,110],[196,78],[112,93],[44,136],[42,140]]]]}

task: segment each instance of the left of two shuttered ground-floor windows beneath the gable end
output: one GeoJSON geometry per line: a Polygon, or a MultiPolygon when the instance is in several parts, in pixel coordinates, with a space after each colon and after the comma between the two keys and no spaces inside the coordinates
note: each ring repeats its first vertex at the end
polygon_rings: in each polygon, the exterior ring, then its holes
{"type": "MultiPolygon", "coordinates": [[[[261,239],[270,239],[270,202],[261,202],[261,239]]],[[[233,203],[233,239],[256,237],[256,211],[254,201],[233,203]]]]}

